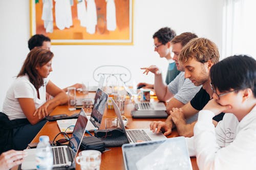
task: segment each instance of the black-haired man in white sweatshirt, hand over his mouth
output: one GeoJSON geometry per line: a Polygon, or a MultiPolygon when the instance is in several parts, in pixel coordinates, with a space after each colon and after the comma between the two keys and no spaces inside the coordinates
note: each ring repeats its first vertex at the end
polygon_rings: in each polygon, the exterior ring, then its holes
{"type": "Polygon", "coordinates": [[[256,169],[256,61],[232,56],[213,65],[214,94],[186,138],[199,169],[256,169]],[[217,127],[212,117],[225,112],[217,127]]]}

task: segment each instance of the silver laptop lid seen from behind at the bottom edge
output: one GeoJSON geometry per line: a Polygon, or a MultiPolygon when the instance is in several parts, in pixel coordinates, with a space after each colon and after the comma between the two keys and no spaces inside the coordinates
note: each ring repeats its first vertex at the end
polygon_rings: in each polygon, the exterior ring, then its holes
{"type": "Polygon", "coordinates": [[[122,153],[126,170],[192,169],[186,139],[183,136],[123,144],[122,153]]]}

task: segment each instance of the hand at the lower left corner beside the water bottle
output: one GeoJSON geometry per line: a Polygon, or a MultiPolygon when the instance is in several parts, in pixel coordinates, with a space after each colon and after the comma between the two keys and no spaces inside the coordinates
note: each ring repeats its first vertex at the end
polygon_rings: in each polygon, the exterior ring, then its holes
{"type": "Polygon", "coordinates": [[[0,155],[0,170],[8,170],[23,162],[27,156],[25,151],[10,150],[0,155]]]}

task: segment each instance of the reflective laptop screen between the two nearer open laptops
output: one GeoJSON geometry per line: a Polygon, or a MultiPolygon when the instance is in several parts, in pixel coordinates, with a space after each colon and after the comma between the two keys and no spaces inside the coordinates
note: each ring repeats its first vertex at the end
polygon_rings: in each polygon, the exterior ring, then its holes
{"type": "Polygon", "coordinates": [[[98,88],[95,98],[94,105],[91,114],[91,120],[99,128],[101,119],[105,110],[106,101],[108,100],[108,94],[98,88]]]}

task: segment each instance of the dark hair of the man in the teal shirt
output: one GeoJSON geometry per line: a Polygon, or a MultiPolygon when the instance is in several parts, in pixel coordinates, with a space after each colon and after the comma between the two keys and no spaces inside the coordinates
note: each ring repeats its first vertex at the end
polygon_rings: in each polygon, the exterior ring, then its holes
{"type": "Polygon", "coordinates": [[[162,44],[166,44],[169,41],[172,41],[172,39],[176,36],[176,33],[174,30],[172,30],[169,27],[164,27],[158,30],[154,35],[153,38],[157,38],[159,42],[162,44]]]}

